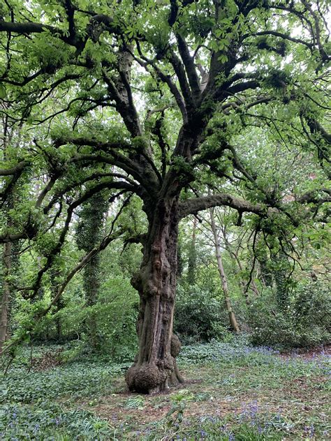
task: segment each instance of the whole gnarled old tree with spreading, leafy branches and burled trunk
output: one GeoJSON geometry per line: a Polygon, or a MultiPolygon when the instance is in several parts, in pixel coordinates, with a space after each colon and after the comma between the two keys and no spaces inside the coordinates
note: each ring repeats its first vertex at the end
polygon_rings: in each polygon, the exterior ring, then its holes
{"type": "MultiPolygon", "coordinates": [[[[323,179],[271,191],[254,170],[260,137],[328,175],[328,1],[5,0],[0,7],[3,260],[20,242],[40,259],[10,290],[36,306],[5,350],[49,313],[66,285],[123,233],[123,204],[140,198],[147,230],[140,271],[138,355],[129,389],[181,382],[172,336],[179,221],[216,206],[267,232],[295,234],[325,221],[323,179]],[[253,139],[252,139],[253,137],[253,139]],[[108,191],[112,230],[75,264],[65,262],[47,307],[38,292],[62,250],[75,210],[108,191]],[[301,191],[302,190],[302,191],[301,191]],[[286,199],[287,195],[290,197],[286,199]],[[36,302],[36,303],[34,303],[36,302]]],[[[298,172],[300,174],[300,171],[298,172]]],[[[24,251],[25,250],[25,251],[24,251]]],[[[10,259],[9,259],[10,260],[10,259]]],[[[7,292],[7,294],[6,294],[7,292]]],[[[4,335],[3,335],[4,334],[4,335]]]]}

